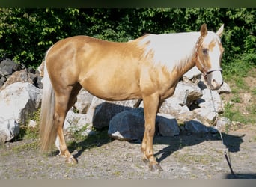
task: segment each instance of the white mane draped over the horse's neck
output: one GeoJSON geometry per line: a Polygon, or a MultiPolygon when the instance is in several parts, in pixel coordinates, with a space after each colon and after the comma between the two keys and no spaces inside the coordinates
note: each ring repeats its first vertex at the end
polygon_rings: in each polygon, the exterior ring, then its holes
{"type": "Polygon", "coordinates": [[[153,55],[155,65],[165,66],[171,71],[192,61],[198,37],[200,32],[148,34],[138,45],[144,47],[145,58],[153,55]]]}

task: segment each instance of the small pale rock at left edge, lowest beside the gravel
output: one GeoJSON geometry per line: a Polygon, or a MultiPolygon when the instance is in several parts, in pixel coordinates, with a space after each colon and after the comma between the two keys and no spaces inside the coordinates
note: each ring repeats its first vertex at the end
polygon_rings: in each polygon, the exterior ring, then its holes
{"type": "Polygon", "coordinates": [[[0,117],[0,144],[12,140],[19,134],[19,124],[16,120],[1,120],[0,117]]]}

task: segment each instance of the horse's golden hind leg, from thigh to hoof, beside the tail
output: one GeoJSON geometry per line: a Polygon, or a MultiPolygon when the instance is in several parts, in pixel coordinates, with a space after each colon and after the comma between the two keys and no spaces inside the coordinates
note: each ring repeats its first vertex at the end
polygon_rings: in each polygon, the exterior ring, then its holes
{"type": "Polygon", "coordinates": [[[55,127],[57,129],[56,147],[60,151],[59,155],[66,158],[66,162],[77,163],[76,159],[67,149],[67,144],[64,138],[63,126],[67,111],[76,102],[76,95],[79,93],[81,85],[77,84],[73,87],[62,89],[60,93],[55,93],[55,127]]]}

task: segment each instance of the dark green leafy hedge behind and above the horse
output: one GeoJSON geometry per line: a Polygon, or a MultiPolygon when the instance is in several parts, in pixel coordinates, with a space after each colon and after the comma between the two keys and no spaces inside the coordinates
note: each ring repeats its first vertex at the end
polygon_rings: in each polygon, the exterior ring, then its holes
{"type": "Polygon", "coordinates": [[[0,8],[0,58],[37,66],[53,43],[73,35],[124,42],[146,33],[199,31],[202,23],[216,31],[224,23],[223,63],[243,56],[255,64],[255,14],[249,8],[0,8]]]}

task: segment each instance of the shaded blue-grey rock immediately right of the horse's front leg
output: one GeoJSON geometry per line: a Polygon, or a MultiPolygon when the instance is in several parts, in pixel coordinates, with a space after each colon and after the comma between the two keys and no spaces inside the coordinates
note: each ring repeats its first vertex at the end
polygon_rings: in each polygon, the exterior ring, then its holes
{"type": "Polygon", "coordinates": [[[159,134],[162,136],[174,136],[180,134],[177,120],[168,114],[158,114],[156,117],[156,126],[158,126],[159,134]]]}

